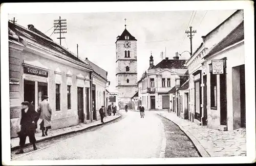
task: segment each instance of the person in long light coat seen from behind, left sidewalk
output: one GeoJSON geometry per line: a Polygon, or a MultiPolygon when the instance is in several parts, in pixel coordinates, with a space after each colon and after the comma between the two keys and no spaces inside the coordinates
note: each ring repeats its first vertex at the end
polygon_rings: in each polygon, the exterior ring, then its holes
{"type": "Polygon", "coordinates": [[[48,129],[51,128],[51,117],[52,117],[52,108],[48,102],[48,96],[42,96],[42,101],[39,103],[37,112],[40,114],[40,130],[42,130],[42,136],[46,136],[48,129]],[[44,133],[45,131],[45,133],[44,133]]]}

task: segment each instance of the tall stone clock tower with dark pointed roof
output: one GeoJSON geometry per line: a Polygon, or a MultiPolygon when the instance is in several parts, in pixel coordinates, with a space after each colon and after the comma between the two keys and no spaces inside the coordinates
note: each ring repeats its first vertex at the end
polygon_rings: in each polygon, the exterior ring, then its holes
{"type": "Polygon", "coordinates": [[[116,39],[116,81],[119,108],[124,109],[126,104],[131,108],[131,98],[138,90],[137,39],[126,30],[126,24],[116,39]]]}

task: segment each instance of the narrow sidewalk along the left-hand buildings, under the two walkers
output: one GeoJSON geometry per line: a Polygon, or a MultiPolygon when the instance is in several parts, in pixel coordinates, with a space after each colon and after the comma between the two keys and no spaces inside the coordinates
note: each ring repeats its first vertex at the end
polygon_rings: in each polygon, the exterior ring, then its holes
{"type": "MultiPolygon", "coordinates": [[[[120,115],[117,116],[107,116],[104,118],[104,122],[108,123],[111,122],[117,118],[120,118],[120,115]]],[[[104,123],[104,124],[105,124],[104,123]]],[[[84,124],[81,123],[79,125],[76,126],[72,126],[72,127],[66,127],[66,128],[61,128],[61,129],[56,129],[56,130],[49,130],[48,131],[48,136],[42,136],[42,133],[35,133],[35,137],[36,137],[36,143],[42,142],[42,141],[46,141],[46,140],[50,140],[50,139],[54,139],[56,137],[62,136],[62,135],[66,135],[66,134],[71,134],[71,133],[75,133],[75,132],[79,132],[79,131],[83,131],[92,127],[96,127],[96,126],[100,126],[103,123],[100,122],[100,120],[97,121],[93,121],[92,123],[89,124],[84,124]]],[[[29,144],[29,139],[26,139],[26,145],[27,146],[29,144]]],[[[11,139],[11,151],[18,149],[19,147],[19,138],[13,138],[11,139]]]]}

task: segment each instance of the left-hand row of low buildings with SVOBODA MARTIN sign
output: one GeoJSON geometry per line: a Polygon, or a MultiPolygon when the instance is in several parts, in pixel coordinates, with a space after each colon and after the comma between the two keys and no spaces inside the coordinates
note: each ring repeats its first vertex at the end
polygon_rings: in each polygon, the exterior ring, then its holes
{"type": "Polygon", "coordinates": [[[106,72],[100,75],[31,24],[9,21],[8,27],[11,137],[20,130],[20,103],[33,101],[37,109],[43,95],[52,108],[52,129],[97,120],[99,113],[91,113],[105,104],[106,72]]]}

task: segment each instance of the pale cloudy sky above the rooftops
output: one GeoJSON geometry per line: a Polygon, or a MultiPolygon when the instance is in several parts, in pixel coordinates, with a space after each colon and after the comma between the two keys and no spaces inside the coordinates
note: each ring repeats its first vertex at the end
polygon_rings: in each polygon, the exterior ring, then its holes
{"type": "MultiPolygon", "coordinates": [[[[33,24],[35,28],[55,42],[59,43],[59,34],[52,34],[53,20],[67,19],[66,39],[61,45],[68,48],[79,58],[90,61],[108,71],[111,81],[110,92],[116,92],[115,73],[115,42],[116,37],[126,29],[137,39],[138,80],[148,68],[152,52],[154,65],[161,61],[160,52],[172,59],[175,52],[190,51],[190,41],[185,34],[192,26],[196,30],[193,36],[193,52],[202,42],[202,36],[209,33],[236,10],[211,11],[154,11],[154,12],[98,12],[98,13],[59,13],[59,14],[9,14],[16,23],[27,27],[33,24]]],[[[188,59],[189,53],[184,52],[180,59],[188,59]]]]}

